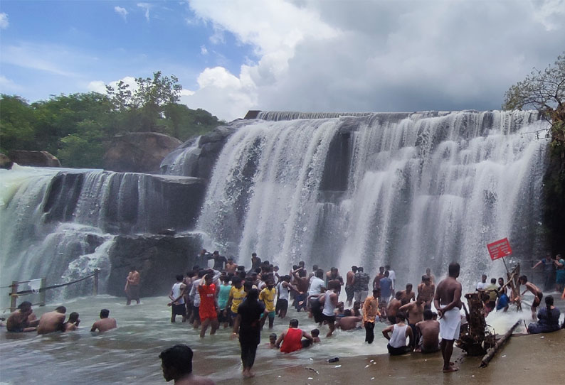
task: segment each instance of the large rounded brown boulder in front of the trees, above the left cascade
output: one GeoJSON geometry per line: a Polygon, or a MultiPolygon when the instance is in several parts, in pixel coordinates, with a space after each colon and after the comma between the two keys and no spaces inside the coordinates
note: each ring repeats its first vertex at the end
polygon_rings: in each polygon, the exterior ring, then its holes
{"type": "Polygon", "coordinates": [[[121,173],[159,173],[163,158],[181,143],[157,132],[115,136],[104,155],[104,168],[121,173]]]}

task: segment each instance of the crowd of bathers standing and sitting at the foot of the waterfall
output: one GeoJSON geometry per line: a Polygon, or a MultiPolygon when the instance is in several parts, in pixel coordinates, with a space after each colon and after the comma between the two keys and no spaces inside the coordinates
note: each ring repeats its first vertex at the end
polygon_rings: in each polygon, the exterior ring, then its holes
{"type": "MultiPolygon", "coordinates": [[[[544,261],[536,264],[534,269],[541,264],[549,266],[549,260],[544,261]]],[[[327,325],[327,338],[332,337],[336,329],[364,329],[365,342],[371,344],[375,340],[376,323],[386,322],[388,325],[382,330],[382,335],[388,341],[389,354],[441,350],[443,372],[458,370],[450,362],[453,343],[460,335],[460,310],[463,306],[462,286],[458,281],[460,266],[456,263],[449,265],[448,277],[439,283],[435,282],[431,270],[426,269],[416,290],[412,283],[399,290],[396,273],[390,266],[381,266],[371,280],[362,266],[352,266],[344,279],[335,267],[324,271],[313,265],[312,270],[307,271],[304,261],[283,273],[269,261],[261,261],[255,253],[251,255],[250,269],[236,264],[233,258],[221,256],[218,251],[209,254],[205,249],[196,263],[186,275],[177,275],[171,286],[167,303],[171,307],[171,322],[180,317],[182,322],[188,322],[199,330],[200,337],[206,336],[208,328],[209,334],[213,335],[220,327],[231,327],[231,337],[238,338],[241,346],[243,376],[253,376],[252,368],[263,327],[273,329],[275,320],[287,318],[289,308],[296,313],[306,312],[318,326],[310,331],[303,330],[299,327],[299,320],[292,318],[285,332],[279,336],[270,334],[266,344],[270,349],[292,353],[315,345],[321,341],[320,328],[324,325],[327,325]],[[213,261],[211,269],[208,261],[213,261]],[[339,300],[342,288],[345,293],[343,302],[339,300]]],[[[551,259],[551,264],[558,272],[556,288],[562,290],[559,271],[563,271],[565,262],[558,256],[551,259]]],[[[485,316],[495,310],[506,312],[510,304],[519,302],[529,291],[534,296],[531,310],[532,319],[536,322],[527,327],[528,331],[551,332],[560,328],[561,313],[554,306],[553,296],[547,295],[546,306],[537,311],[544,295],[541,289],[528,281],[527,276],[520,276],[519,285],[510,290],[509,282],[505,283],[504,278],[491,278],[489,283],[487,276],[483,275],[475,290],[481,296],[485,316]],[[524,286],[522,293],[521,286],[524,286]]],[[[132,300],[139,303],[139,272],[135,268],[130,269],[127,276],[125,293],[127,305],[132,300]]],[[[59,306],[38,319],[31,303],[23,302],[10,315],[6,327],[11,332],[37,331],[38,334],[76,330],[80,323],[78,313],[70,313],[66,321],[65,313],[65,307],[59,306]]],[[[104,332],[117,327],[116,320],[110,318],[109,313],[109,310],[102,309],[100,320],[94,322],[91,331],[104,332]]],[[[286,324],[286,321],[283,322],[286,324]]],[[[178,372],[175,362],[180,361],[173,358],[176,355],[185,362],[191,362],[192,351],[186,345],[176,345],[162,352],[159,357],[163,360],[165,378],[189,378],[190,375],[191,381],[194,381],[196,377],[191,375],[191,367],[189,372],[186,368],[182,369],[185,372],[178,372]]],[[[206,383],[206,379],[199,381],[206,383]]]]}

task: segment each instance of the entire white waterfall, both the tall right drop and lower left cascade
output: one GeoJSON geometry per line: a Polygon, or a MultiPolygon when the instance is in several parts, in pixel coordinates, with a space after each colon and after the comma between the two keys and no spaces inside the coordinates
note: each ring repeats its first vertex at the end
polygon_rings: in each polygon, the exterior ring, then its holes
{"type": "MultiPolygon", "coordinates": [[[[0,170],[1,286],[125,269],[110,266],[115,239],[163,229],[196,230],[245,266],[253,251],[283,272],[300,260],[342,273],[390,264],[413,283],[450,261],[467,283],[500,276],[486,244],[504,237],[512,259],[544,254],[548,143],[535,133],[548,124],[535,112],[258,117],[187,141],[163,161],[166,175],[0,170]]],[[[193,251],[167,252],[182,264],[193,251]]]]}

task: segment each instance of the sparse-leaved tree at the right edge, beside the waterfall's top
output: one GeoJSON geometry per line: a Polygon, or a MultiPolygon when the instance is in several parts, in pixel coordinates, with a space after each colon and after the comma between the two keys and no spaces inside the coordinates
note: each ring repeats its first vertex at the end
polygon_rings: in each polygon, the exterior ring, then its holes
{"type": "Polygon", "coordinates": [[[565,52],[554,65],[534,70],[505,94],[503,109],[537,109],[551,123],[554,146],[565,143],[565,52]]]}

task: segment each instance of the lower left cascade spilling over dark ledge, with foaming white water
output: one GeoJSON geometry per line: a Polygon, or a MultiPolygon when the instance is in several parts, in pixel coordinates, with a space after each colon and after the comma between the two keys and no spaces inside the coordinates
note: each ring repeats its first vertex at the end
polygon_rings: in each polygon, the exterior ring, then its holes
{"type": "MultiPolygon", "coordinates": [[[[48,285],[101,269],[110,273],[108,249],[118,234],[187,229],[194,178],[14,166],[0,170],[2,286],[46,277],[48,285]],[[177,199],[180,197],[179,199],[177,199]]],[[[89,293],[92,283],[69,293],[89,293]]],[[[61,290],[60,293],[64,293],[61,290]]],[[[53,292],[48,292],[53,295],[53,292]]],[[[6,296],[7,297],[7,296],[6,296]]],[[[6,305],[6,298],[2,305],[6,305]]]]}

